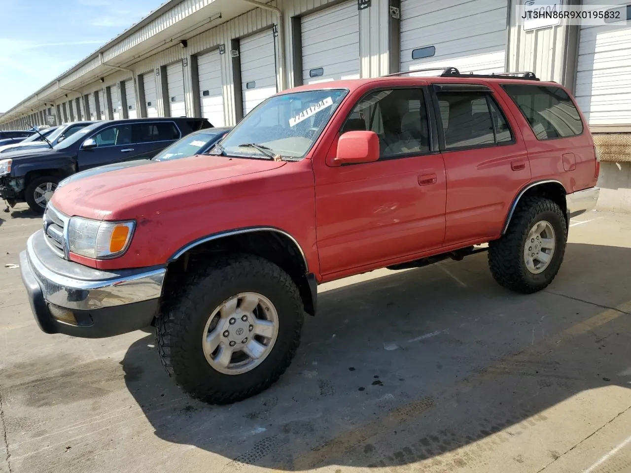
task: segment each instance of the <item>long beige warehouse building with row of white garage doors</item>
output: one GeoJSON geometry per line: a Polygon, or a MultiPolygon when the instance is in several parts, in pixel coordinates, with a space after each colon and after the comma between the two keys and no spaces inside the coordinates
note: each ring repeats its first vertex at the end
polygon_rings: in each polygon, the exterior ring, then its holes
{"type": "MultiPolygon", "coordinates": [[[[224,126],[304,83],[442,66],[533,71],[574,91],[589,120],[604,161],[599,204],[631,210],[631,23],[530,28],[517,25],[518,1],[170,0],[8,110],[0,128],[181,115],[224,126]]],[[[631,19],[631,4],[609,3],[631,19]]]]}

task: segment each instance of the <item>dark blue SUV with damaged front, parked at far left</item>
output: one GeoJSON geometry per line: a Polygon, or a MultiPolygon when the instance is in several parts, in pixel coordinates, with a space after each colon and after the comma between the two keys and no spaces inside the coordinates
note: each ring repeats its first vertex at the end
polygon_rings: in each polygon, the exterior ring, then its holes
{"type": "Polygon", "coordinates": [[[0,197],[9,206],[26,201],[42,213],[63,178],[109,163],[153,158],[180,137],[209,127],[206,119],[187,117],[95,122],[52,149],[7,153],[0,160],[0,197]]]}

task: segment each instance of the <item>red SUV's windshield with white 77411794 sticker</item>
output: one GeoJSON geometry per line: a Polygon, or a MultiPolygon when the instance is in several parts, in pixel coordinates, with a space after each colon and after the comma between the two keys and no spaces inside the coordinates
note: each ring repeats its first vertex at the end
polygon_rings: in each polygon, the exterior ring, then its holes
{"type": "MultiPolygon", "coordinates": [[[[228,134],[221,146],[228,156],[266,157],[261,149],[286,158],[304,158],[348,90],[308,90],[271,96],[228,134]]],[[[218,149],[213,149],[217,153],[218,149]]]]}

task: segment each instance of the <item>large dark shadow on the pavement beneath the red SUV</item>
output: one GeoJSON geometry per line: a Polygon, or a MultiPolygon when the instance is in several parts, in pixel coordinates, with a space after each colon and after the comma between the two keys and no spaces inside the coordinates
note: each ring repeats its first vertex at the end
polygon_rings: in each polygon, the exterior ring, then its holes
{"type": "Polygon", "coordinates": [[[630,265],[631,248],[569,244],[557,279],[529,296],[497,286],[484,254],[346,281],[320,293],[292,366],[262,394],[232,406],[189,399],[150,337],[129,347],[126,385],[156,436],[222,455],[226,472],[473,466],[550,407],[629,386],[617,373],[631,365],[631,320],[608,307],[631,312],[630,265]],[[477,457],[458,450],[487,438],[477,457]]]}

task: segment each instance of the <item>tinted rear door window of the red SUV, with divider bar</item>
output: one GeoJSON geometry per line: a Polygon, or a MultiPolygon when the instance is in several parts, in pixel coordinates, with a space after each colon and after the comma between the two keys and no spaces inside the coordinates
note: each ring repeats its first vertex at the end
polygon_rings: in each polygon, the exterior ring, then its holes
{"type": "Polygon", "coordinates": [[[445,148],[495,146],[512,141],[504,115],[487,93],[439,92],[437,96],[445,148]]]}

